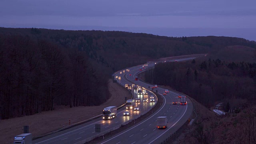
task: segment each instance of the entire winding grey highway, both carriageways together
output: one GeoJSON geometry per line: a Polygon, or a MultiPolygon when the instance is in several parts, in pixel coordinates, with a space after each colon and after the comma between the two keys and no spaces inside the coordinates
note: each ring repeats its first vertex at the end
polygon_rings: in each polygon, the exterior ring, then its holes
{"type": "MultiPolygon", "coordinates": [[[[178,61],[188,60],[192,58],[184,58],[184,59],[177,59],[178,61]]],[[[127,68],[124,70],[120,70],[116,72],[114,78],[120,83],[122,86],[125,84],[131,84],[131,82],[137,83],[139,86],[144,88],[148,88],[148,86],[152,87],[152,85],[146,84],[144,82],[135,81],[135,76],[138,72],[142,72],[139,70],[141,66],[134,66],[132,68],[127,68]],[[122,74],[120,74],[122,72],[122,74]],[[131,74],[131,76],[130,76],[131,74]],[[127,79],[127,80],[126,80],[127,79]],[[129,81],[130,82],[129,82],[129,81]]],[[[154,63],[148,64],[145,68],[152,68],[154,67],[154,63]]],[[[162,88],[156,88],[158,92],[161,94],[164,92],[162,88]]],[[[148,91],[148,96],[153,95],[150,91],[148,91]]],[[[126,106],[120,108],[118,110],[118,116],[112,120],[102,120],[102,117],[92,120],[90,122],[86,122],[79,126],[75,126],[73,128],[69,128],[67,130],[63,130],[61,132],[57,132],[55,134],[51,134],[36,140],[33,140],[33,144],[80,144],[84,142],[84,140],[88,140],[93,136],[96,136],[97,133],[95,132],[95,124],[101,124],[101,132],[110,130],[115,126],[118,126],[122,123],[131,120],[132,118],[142,114],[146,110],[152,108],[155,102],[143,102],[143,99],[147,96],[138,96],[136,92],[132,89],[132,93],[134,98],[140,98],[140,102],[136,103],[136,107],[139,107],[139,111],[128,110],[130,112],[130,116],[123,116],[124,111],[126,111],[126,106]]],[[[170,132],[176,131],[180,126],[186,121],[188,116],[192,113],[192,103],[189,99],[187,99],[188,105],[187,106],[180,106],[180,105],[172,105],[172,101],[178,101],[178,94],[174,92],[170,92],[166,96],[164,96],[164,104],[160,108],[161,110],[156,114],[153,114],[150,118],[143,121],[142,123],[136,125],[131,130],[127,130],[126,132],[119,134],[118,136],[111,138],[104,143],[157,143],[166,138],[170,134],[170,132]],[[168,129],[166,130],[158,130],[156,129],[156,117],[158,116],[167,116],[168,117],[168,129]],[[168,132],[167,132],[168,131],[168,132]],[[157,138],[157,140],[156,140],[157,138]],[[133,142],[132,142],[133,141],[133,142]]],[[[120,96],[120,98],[124,98],[120,96]]]]}

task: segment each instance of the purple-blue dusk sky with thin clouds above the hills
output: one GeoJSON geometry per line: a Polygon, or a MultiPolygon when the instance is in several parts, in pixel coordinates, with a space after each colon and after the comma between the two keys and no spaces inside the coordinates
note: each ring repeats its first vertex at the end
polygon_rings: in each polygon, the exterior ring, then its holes
{"type": "Polygon", "coordinates": [[[256,40],[256,0],[0,0],[0,26],[256,40]]]}

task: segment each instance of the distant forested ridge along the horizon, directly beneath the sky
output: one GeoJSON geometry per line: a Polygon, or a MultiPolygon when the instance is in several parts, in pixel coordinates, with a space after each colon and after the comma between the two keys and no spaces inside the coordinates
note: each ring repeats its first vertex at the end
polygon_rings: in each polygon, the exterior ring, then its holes
{"type": "Polygon", "coordinates": [[[256,48],[255,41],[216,36],[177,38],[119,31],[37,28],[0,28],[0,33],[29,35],[34,39],[45,39],[60,46],[85,51],[89,58],[107,67],[107,74],[152,59],[211,53],[225,46],[242,45],[256,48]]]}

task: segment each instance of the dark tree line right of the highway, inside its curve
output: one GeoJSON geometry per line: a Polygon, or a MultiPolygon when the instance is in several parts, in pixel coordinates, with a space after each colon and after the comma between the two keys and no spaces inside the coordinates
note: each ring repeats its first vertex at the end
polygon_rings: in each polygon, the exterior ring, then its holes
{"type": "Polygon", "coordinates": [[[170,86],[207,107],[217,100],[255,99],[255,78],[256,63],[219,59],[160,63],[145,73],[146,81],[170,86]]]}

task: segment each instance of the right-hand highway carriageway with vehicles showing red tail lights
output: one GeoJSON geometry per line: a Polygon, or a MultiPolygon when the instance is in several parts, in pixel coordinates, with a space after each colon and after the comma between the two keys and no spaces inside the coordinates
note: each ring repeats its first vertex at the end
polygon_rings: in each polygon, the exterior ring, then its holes
{"type": "MultiPolygon", "coordinates": [[[[190,59],[192,58],[179,59],[178,61],[190,59]]],[[[154,63],[148,64],[146,68],[152,68],[153,66],[154,63]]],[[[143,71],[139,70],[140,67],[142,66],[130,68],[130,72],[128,72],[126,75],[127,79],[134,82],[135,76],[139,72],[143,71]]],[[[153,86],[141,81],[136,81],[136,83],[145,88],[148,88],[148,86],[151,88],[153,86]]],[[[159,87],[155,88],[155,90],[158,90],[158,93],[160,94],[165,92],[165,89],[159,87]]],[[[140,124],[118,134],[117,136],[109,138],[108,140],[102,142],[102,144],[108,144],[110,142],[112,144],[158,144],[167,138],[171,133],[178,130],[187,121],[187,119],[190,118],[189,116],[193,112],[193,104],[191,100],[187,98],[186,101],[188,104],[180,105],[180,100],[178,98],[179,94],[170,90],[168,94],[162,96],[164,97],[164,102],[158,112],[154,113],[152,116],[150,116],[150,118],[144,120],[140,124]],[[178,104],[173,105],[173,101],[177,101],[178,104]],[[167,117],[168,128],[158,129],[156,127],[156,118],[159,116],[167,117]]]]}

